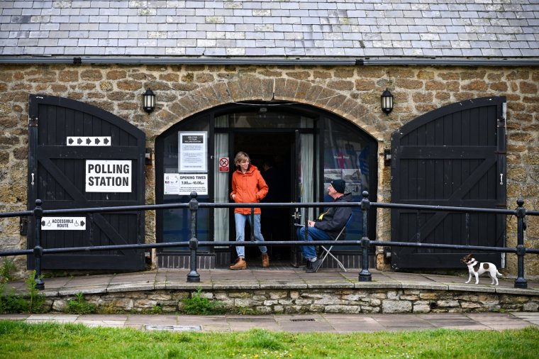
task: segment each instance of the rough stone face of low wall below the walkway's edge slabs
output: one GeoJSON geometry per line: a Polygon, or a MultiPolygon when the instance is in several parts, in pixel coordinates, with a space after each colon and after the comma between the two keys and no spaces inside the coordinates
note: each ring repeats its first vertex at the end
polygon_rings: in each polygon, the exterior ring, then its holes
{"type": "MultiPolygon", "coordinates": [[[[510,291],[509,291],[510,292],[510,291]]],[[[182,299],[196,292],[156,290],[86,294],[98,311],[171,313],[182,311],[182,299]]],[[[201,293],[233,313],[455,313],[484,311],[538,311],[539,296],[492,292],[460,292],[428,289],[230,289],[201,293]]],[[[72,295],[47,297],[50,311],[65,311],[72,295]]]]}

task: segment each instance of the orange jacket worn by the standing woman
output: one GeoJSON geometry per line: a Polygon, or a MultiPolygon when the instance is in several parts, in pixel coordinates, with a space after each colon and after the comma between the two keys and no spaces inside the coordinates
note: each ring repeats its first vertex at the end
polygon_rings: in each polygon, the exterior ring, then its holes
{"type": "MultiPolygon", "coordinates": [[[[235,170],[232,174],[232,192],[230,199],[235,203],[258,203],[266,197],[268,187],[260,171],[255,165],[250,165],[247,172],[235,170]],[[232,198],[232,195],[235,197],[232,198]]],[[[250,214],[250,208],[235,208],[234,213],[250,214]]],[[[260,208],[255,208],[255,214],[260,214],[260,208]]]]}

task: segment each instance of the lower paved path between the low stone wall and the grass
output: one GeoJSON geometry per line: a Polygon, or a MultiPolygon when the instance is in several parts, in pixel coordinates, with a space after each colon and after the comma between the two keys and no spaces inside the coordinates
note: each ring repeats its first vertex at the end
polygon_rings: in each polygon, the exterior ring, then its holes
{"type": "Polygon", "coordinates": [[[439,313],[439,314],[294,314],[215,315],[176,314],[5,314],[0,320],[27,323],[55,321],[87,326],[113,326],[145,331],[269,331],[347,333],[353,331],[409,331],[435,328],[495,330],[539,326],[539,313],[439,313]]]}

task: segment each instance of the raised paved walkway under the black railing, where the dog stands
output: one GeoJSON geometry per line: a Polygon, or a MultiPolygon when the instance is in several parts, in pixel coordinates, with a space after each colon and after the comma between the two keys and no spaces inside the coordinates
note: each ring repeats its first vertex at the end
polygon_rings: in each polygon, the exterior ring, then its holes
{"type": "MultiPolygon", "coordinates": [[[[187,282],[189,270],[150,270],[111,275],[81,275],[74,277],[45,278],[46,296],[72,295],[76,293],[96,294],[106,292],[129,292],[158,289],[306,289],[306,288],[394,288],[394,289],[435,289],[466,292],[532,294],[539,296],[539,281],[528,280],[527,289],[514,287],[514,278],[503,277],[499,285],[490,285],[489,277],[479,277],[479,285],[474,281],[465,284],[467,274],[431,275],[404,272],[379,272],[371,270],[372,281],[360,282],[360,270],[348,272],[323,269],[317,273],[306,273],[301,268],[270,268],[252,270],[198,270],[200,282],[187,282]]],[[[23,280],[9,282],[7,290],[25,291],[23,280]]]]}

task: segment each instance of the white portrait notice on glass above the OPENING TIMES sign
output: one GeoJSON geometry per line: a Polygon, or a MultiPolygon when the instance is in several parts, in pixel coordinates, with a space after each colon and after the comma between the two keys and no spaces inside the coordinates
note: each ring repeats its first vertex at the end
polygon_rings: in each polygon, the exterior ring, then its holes
{"type": "Polygon", "coordinates": [[[208,172],[207,132],[178,132],[179,172],[208,172]]]}

